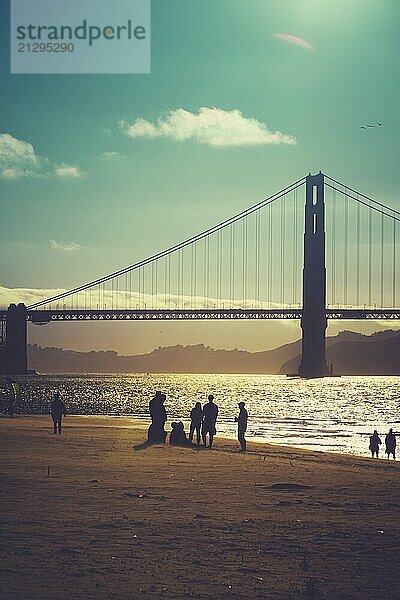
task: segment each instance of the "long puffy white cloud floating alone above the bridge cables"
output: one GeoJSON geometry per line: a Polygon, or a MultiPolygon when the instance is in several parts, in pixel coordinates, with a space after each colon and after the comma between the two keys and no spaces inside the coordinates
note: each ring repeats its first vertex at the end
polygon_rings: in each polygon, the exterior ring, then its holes
{"type": "Polygon", "coordinates": [[[198,113],[183,108],[171,110],[155,123],[142,118],[132,123],[120,121],[119,127],[134,139],[167,138],[174,142],[192,140],[217,147],[296,143],[293,136],[272,131],[265,123],[243,116],[240,110],[226,111],[205,106],[198,113]]]}

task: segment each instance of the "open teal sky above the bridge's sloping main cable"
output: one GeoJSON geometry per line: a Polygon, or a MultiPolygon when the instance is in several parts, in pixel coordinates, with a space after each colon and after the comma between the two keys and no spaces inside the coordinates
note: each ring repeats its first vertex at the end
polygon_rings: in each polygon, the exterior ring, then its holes
{"type": "MultiPolygon", "coordinates": [[[[0,177],[0,286],[74,287],[319,169],[400,207],[398,0],[153,0],[152,72],[129,76],[10,75],[6,4],[0,133],[82,176],[0,177]],[[132,139],[118,126],[200,107],[238,109],[297,143],[215,147],[132,139]],[[359,129],[377,121],[384,126],[359,129]],[[121,157],[101,158],[104,152],[121,157]],[[71,244],[80,248],[63,249],[71,244]]],[[[204,327],[198,331],[196,341],[204,327]]],[[[148,346],[159,343],[166,340],[154,336],[148,346]]],[[[92,345],[104,347],[94,338],[92,345]]]]}

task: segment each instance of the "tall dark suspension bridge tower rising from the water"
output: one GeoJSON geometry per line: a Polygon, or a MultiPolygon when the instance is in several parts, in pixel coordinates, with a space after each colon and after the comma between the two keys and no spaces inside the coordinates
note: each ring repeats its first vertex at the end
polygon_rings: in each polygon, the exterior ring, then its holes
{"type": "Polygon", "coordinates": [[[299,375],[324,377],[326,333],[324,175],[306,178],[303,266],[302,357],[299,375]]]}

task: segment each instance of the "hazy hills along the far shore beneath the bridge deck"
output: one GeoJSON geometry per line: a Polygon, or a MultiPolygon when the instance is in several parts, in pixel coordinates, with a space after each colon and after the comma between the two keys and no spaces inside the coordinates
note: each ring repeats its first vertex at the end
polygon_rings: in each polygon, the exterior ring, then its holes
{"type": "MultiPolygon", "coordinates": [[[[300,354],[301,340],[264,352],[198,344],[159,347],[134,356],[28,346],[29,368],[42,373],[294,373],[300,354]]],[[[367,336],[343,331],[327,339],[327,360],[337,373],[400,375],[400,332],[367,336]]]]}

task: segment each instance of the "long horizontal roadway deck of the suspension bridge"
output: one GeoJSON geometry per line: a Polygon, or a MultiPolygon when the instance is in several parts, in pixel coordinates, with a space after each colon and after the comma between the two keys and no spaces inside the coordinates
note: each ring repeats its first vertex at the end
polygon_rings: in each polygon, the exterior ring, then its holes
{"type": "MultiPolygon", "coordinates": [[[[54,309],[28,310],[27,321],[31,323],[54,323],[57,321],[176,321],[176,320],[269,320],[297,319],[302,317],[301,308],[215,308],[215,309],[54,309]]],[[[5,321],[7,311],[0,311],[0,320],[5,321]]],[[[327,319],[341,320],[393,320],[400,319],[400,309],[356,309],[356,308],[327,308],[327,319]]]]}

